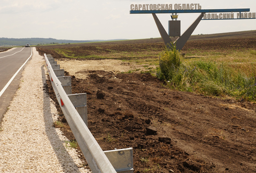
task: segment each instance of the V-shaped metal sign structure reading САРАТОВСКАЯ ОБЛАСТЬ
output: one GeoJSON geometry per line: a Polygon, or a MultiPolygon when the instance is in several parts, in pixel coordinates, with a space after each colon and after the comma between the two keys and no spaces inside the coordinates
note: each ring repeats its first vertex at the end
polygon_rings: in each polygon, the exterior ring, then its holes
{"type": "Polygon", "coordinates": [[[168,48],[172,46],[172,44],[170,44],[172,43],[170,36],[178,36],[178,39],[174,41],[177,50],[183,48],[201,20],[256,19],[256,13],[251,13],[249,8],[201,10],[199,4],[131,4],[130,14],[152,14],[163,42],[168,48]],[[172,10],[172,7],[174,7],[174,10],[172,10]],[[168,34],[158,19],[157,13],[172,14],[172,20],[169,20],[168,34]],[[180,35],[180,20],[177,20],[179,13],[201,13],[182,35],[180,35]]]}

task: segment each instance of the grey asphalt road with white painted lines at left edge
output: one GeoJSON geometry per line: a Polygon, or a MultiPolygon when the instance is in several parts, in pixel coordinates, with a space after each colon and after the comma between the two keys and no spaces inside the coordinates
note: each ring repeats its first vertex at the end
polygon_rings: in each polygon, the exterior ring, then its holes
{"type": "Polygon", "coordinates": [[[31,55],[31,47],[0,53],[0,122],[19,87],[21,73],[31,55]]]}

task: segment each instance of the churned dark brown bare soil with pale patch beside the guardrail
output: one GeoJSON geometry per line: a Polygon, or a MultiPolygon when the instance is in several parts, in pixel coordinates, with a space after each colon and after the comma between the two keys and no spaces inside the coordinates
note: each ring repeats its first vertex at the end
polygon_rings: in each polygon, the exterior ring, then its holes
{"type": "MultiPolygon", "coordinates": [[[[58,59],[72,76],[73,94],[87,93],[89,130],[103,150],[132,147],[135,173],[256,172],[255,103],[170,90],[150,74],[117,72],[125,68],[118,60],[103,69],[76,69],[74,63],[58,59]]],[[[45,89],[56,101],[51,86],[45,89]]],[[[74,139],[60,115],[64,135],[74,139]]]]}

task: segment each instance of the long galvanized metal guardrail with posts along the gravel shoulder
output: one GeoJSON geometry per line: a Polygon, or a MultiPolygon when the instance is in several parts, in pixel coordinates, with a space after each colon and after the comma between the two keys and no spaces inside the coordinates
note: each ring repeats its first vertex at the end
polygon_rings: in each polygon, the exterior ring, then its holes
{"type": "Polygon", "coordinates": [[[57,101],[91,171],[93,173],[133,173],[132,148],[102,151],[87,127],[86,93],[71,94],[71,81],[68,76],[63,78],[64,70],[58,69],[59,66],[56,66],[57,63],[51,55],[44,54],[44,58],[57,101]],[[63,86],[59,79],[63,82],[63,86]],[[65,91],[65,86],[70,87],[65,91]],[[84,97],[85,99],[79,99],[84,97]]]}

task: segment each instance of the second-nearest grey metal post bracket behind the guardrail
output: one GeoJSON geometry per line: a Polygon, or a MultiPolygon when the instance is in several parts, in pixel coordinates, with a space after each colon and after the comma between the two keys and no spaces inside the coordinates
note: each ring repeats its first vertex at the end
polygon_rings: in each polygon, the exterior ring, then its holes
{"type": "Polygon", "coordinates": [[[72,102],[73,106],[76,108],[78,114],[83,119],[86,126],[88,127],[87,94],[70,94],[68,95],[68,98],[72,102]]]}

